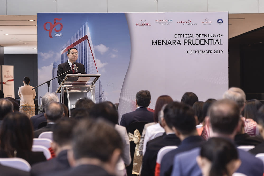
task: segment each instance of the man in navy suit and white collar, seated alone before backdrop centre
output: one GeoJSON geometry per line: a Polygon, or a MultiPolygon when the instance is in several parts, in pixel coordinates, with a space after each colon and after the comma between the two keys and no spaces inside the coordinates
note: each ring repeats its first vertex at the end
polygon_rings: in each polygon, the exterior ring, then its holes
{"type": "Polygon", "coordinates": [[[120,125],[128,127],[133,122],[154,122],[153,112],[148,111],[147,107],[150,104],[150,92],[148,90],[141,90],[136,93],[136,110],[122,115],[120,125]]]}

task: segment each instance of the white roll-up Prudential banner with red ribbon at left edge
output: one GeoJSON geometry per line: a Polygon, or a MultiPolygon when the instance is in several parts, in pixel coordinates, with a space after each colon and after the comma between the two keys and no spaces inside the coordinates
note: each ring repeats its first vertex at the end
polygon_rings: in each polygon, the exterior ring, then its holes
{"type": "Polygon", "coordinates": [[[2,65],[2,85],[4,97],[15,98],[14,66],[2,65]]]}

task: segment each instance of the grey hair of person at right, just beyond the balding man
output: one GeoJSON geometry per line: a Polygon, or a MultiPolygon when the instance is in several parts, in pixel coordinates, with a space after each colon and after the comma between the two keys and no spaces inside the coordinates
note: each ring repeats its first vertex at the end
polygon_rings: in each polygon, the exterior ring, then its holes
{"type": "Polygon", "coordinates": [[[230,89],[225,91],[223,98],[235,101],[241,110],[246,103],[246,94],[242,89],[238,87],[231,87],[230,89]]]}

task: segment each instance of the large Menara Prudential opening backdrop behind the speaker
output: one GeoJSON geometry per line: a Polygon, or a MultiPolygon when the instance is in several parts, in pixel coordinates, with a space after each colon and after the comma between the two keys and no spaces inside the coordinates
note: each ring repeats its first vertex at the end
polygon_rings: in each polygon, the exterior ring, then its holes
{"type": "MultiPolygon", "coordinates": [[[[96,102],[119,103],[119,117],[135,110],[139,90],[154,110],[160,95],[205,101],[228,89],[228,12],[38,13],[37,24],[38,83],[56,77],[75,47],[86,73],[101,74],[96,102]]],[[[39,100],[47,91],[38,88],[39,100]]]]}

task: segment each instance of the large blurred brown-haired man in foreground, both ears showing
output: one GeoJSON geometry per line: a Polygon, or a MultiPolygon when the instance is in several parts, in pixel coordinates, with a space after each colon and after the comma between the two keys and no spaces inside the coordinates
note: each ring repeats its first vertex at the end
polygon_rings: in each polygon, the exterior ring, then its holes
{"type": "Polygon", "coordinates": [[[72,168],[53,176],[111,176],[122,153],[122,140],[114,126],[102,119],[85,119],[74,128],[68,160],[72,168]]]}

